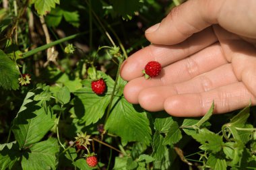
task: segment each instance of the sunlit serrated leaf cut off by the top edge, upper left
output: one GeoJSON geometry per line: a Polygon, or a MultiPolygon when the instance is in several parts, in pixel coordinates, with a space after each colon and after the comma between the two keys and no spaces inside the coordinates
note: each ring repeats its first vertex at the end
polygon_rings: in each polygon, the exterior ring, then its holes
{"type": "Polygon", "coordinates": [[[45,15],[47,11],[51,11],[51,8],[59,4],[59,0],[33,0],[32,3],[39,15],[45,15]]]}

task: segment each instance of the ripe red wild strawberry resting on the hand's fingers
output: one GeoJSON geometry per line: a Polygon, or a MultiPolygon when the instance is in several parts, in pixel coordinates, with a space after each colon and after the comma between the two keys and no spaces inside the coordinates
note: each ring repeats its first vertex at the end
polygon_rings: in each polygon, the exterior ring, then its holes
{"type": "Polygon", "coordinates": [[[143,73],[145,74],[145,78],[149,79],[150,77],[158,76],[161,72],[161,69],[162,67],[159,62],[150,61],[143,70],[143,73]]]}

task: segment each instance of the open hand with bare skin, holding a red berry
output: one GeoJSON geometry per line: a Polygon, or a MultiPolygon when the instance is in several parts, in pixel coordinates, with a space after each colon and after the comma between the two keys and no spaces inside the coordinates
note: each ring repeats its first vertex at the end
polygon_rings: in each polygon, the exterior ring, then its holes
{"type": "Polygon", "coordinates": [[[256,105],[256,1],[189,0],[146,30],[152,42],[121,67],[130,103],[172,116],[222,114],[256,105]],[[141,71],[160,62],[158,77],[141,71]]]}

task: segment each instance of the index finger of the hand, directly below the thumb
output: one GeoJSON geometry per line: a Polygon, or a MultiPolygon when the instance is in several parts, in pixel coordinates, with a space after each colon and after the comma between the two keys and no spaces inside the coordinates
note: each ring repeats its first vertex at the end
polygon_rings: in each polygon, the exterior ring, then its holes
{"type": "Polygon", "coordinates": [[[141,72],[146,64],[151,60],[160,62],[162,67],[171,64],[177,60],[181,60],[217,41],[212,30],[208,28],[198,34],[195,34],[187,41],[173,46],[151,45],[135,52],[121,67],[121,77],[126,81],[141,77],[141,72]]]}

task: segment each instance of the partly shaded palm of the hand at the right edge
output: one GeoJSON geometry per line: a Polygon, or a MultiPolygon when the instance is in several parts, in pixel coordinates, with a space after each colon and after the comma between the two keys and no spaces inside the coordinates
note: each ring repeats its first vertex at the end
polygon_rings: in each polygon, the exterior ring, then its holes
{"type": "Polygon", "coordinates": [[[256,48],[240,37],[215,26],[222,51],[227,60],[232,62],[234,73],[239,81],[256,96],[256,48]]]}

